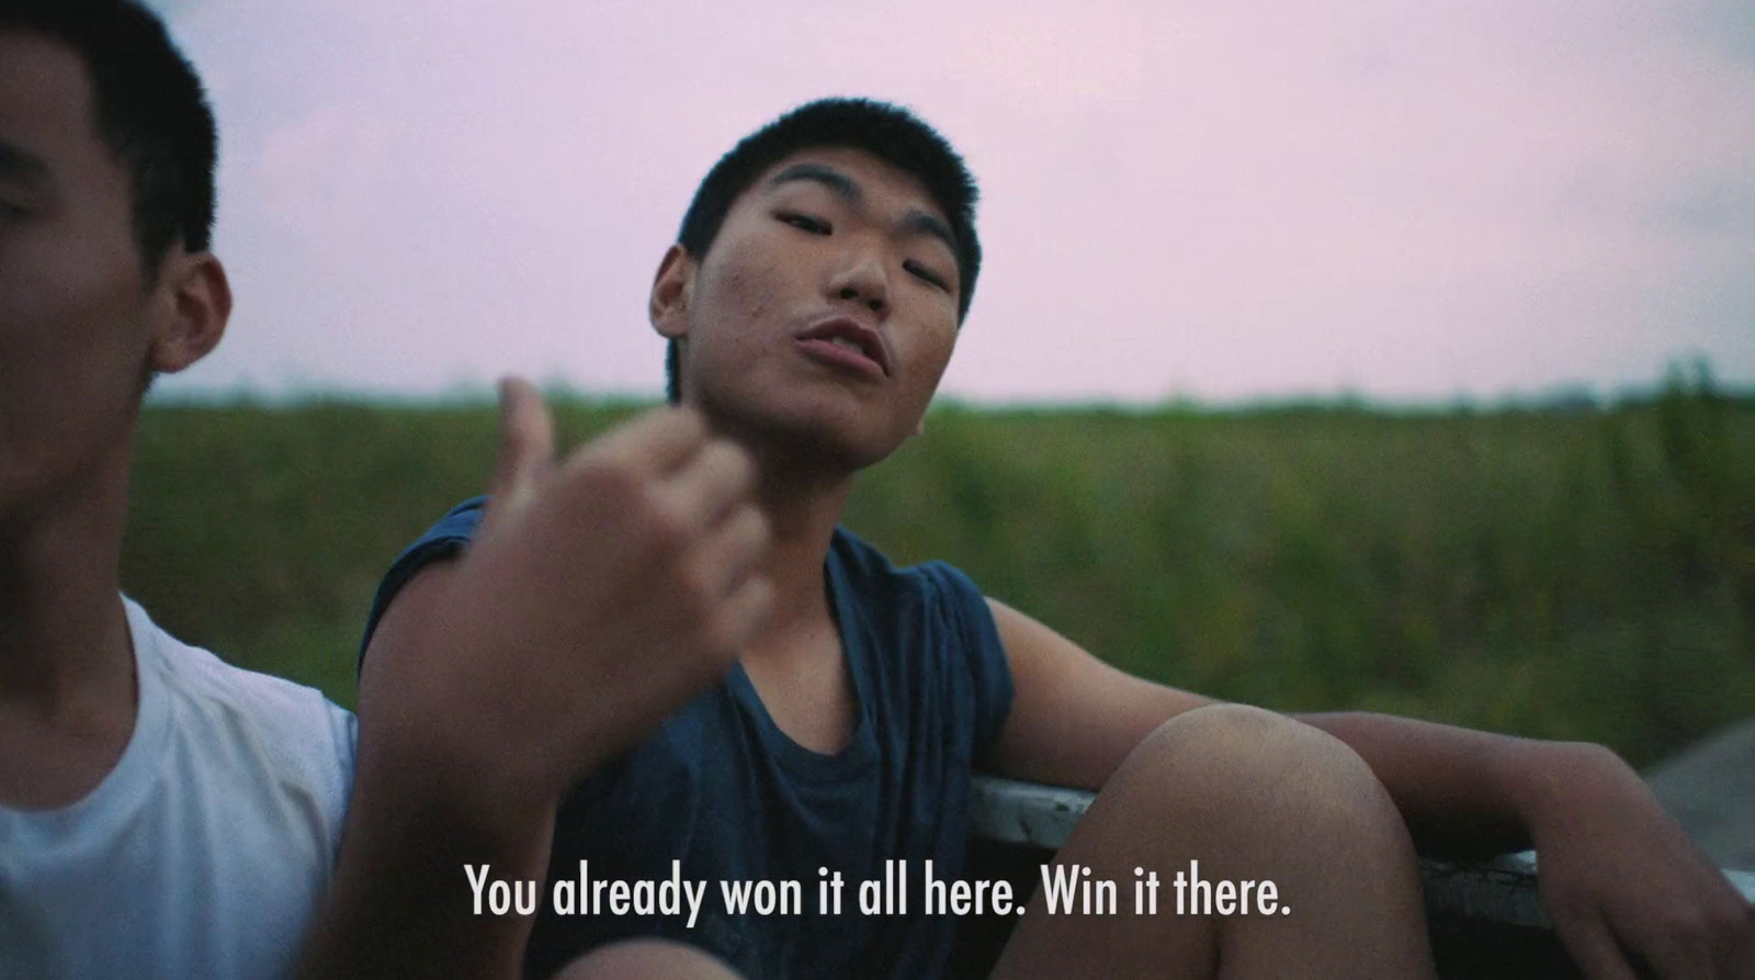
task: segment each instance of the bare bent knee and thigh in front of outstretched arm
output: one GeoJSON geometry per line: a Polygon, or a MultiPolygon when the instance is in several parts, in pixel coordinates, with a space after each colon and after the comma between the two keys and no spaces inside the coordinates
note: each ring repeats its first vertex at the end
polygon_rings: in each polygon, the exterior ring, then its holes
{"type": "Polygon", "coordinates": [[[1134,750],[1055,864],[1116,883],[1114,915],[1048,915],[1037,890],[995,980],[1032,976],[1430,978],[1420,866],[1388,792],[1346,745],[1221,704],[1134,750]],[[1176,873],[1274,882],[1290,913],[1178,915],[1176,873]],[[1157,871],[1157,915],[1134,910],[1157,871]]]}

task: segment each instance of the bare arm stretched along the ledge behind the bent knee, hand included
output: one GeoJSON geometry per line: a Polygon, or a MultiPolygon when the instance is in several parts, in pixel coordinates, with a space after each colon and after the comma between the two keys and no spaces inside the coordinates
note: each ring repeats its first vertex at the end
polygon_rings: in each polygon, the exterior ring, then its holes
{"type": "MultiPolygon", "coordinates": [[[[1013,669],[1013,711],[990,759],[1014,778],[1100,789],[1160,724],[1213,701],[1116,671],[990,601],[1013,669]]],[[[1369,713],[1297,715],[1357,752],[1422,848],[1534,845],[1541,890],[1590,976],[1748,976],[1755,912],[1613,752],[1369,713]],[[1625,952],[1623,952],[1625,950],[1625,952]]]]}

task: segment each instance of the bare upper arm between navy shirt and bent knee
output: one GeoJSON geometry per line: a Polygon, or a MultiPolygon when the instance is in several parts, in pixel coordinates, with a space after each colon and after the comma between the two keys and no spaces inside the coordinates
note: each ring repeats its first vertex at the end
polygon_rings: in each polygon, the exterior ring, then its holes
{"type": "Polygon", "coordinates": [[[1011,715],[990,759],[1002,776],[1100,789],[1153,729],[1213,703],[1118,671],[1004,602],[988,608],[1013,676],[1011,715]]]}

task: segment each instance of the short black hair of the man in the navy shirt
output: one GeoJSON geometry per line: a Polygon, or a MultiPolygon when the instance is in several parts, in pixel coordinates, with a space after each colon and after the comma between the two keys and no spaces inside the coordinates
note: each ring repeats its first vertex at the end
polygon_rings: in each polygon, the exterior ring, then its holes
{"type": "MultiPolygon", "coordinates": [[[[944,209],[956,251],[956,320],[969,314],[981,272],[981,239],[976,237],[976,200],[981,191],[963,158],[920,116],[900,105],[872,98],[820,98],[807,102],[746,135],[707,170],[695,198],[683,214],[676,241],[697,262],[707,256],[732,204],[769,167],[800,149],[851,148],[913,174],[944,209]]],[[[665,397],[683,397],[677,342],[665,351],[665,397]]]]}

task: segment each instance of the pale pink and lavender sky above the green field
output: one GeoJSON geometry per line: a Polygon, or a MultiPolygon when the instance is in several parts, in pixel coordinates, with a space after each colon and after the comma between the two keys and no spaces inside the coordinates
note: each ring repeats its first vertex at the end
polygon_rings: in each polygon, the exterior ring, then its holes
{"type": "Polygon", "coordinates": [[[183,0],[239,309],[165,393],[656,395],[695,183],[820,95],[983,184],[981,402],[1755,385],[1739,0],[183,0]]]}

